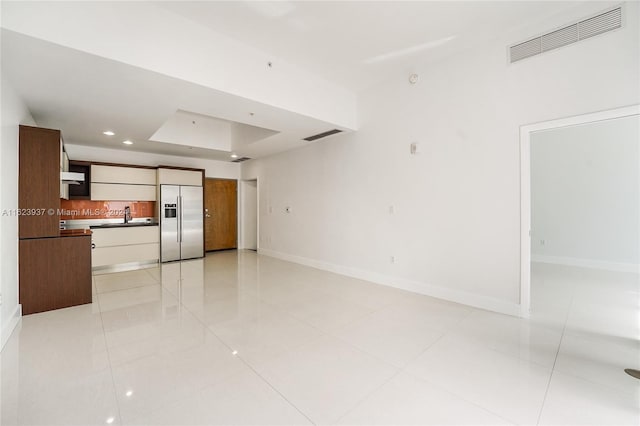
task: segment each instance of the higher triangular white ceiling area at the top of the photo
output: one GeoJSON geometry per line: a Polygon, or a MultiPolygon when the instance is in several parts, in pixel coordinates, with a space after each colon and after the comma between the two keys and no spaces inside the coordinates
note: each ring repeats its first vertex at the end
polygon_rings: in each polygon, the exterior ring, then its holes
{"type": "Polygon", "coordinates": [[[358,91],[580,2],[161,1],[212,30],[358,91]]]}

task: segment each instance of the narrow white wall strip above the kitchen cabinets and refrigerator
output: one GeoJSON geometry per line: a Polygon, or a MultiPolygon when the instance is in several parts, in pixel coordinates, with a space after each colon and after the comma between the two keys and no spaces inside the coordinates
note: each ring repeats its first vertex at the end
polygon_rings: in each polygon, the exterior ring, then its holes
{"type": "Polygon", "coordinates": [[[205,158],[178,157],[174,155],[149,154],[122,149],[96,148],[85,145],[65,144],[71,160],[101,161],[105,163],[138,164],[141,166],[175,166],[204,169],[206,177],[238,179],[240,164],[205,158]]]}

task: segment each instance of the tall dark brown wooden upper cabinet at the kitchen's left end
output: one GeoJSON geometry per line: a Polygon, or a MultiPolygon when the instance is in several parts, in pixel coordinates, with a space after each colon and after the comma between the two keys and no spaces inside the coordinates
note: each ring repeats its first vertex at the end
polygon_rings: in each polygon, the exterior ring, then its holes
{"type": "Polygon", "coordinates": [[[56,237],[60,229],[60,131],[20,126],[20,238],[56,237]]]}

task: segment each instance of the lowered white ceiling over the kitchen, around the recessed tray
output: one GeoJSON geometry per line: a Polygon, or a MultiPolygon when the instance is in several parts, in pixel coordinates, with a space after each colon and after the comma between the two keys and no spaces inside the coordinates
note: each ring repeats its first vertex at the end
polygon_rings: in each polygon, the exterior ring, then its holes
{"type": "Polygon", "coordinates": [[[333,128],[310,117],[8,30],[2,30],[2,72],[38,125],[62,130],[67,144],[231,161],[230,149],[207,149],[198,143],[186,146],[184,141],[192,137],[189,133],[180,143],[153,140],[178,110],[231,122],[233,132],[242,139],[233,150],[250,158],[307,145],[302,138],[333,128]],[[248,140],[255,129],[263,139],[248,140]],[[116,135],[105,136],[105,130],[116,135]],[[123,145],[126,139],[134,144],[123,145]]]}

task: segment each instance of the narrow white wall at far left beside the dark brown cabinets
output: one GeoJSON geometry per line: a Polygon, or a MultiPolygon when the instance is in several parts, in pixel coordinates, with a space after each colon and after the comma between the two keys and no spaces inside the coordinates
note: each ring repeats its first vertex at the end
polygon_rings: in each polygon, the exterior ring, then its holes
{"type": "Polygon", "coordinates": [[[18,304],[18,218],[2,212],[18,207],[18,125],[35,125],[24,103],[6,80],[1,82],[0,122],[0,348],[20,319],[18,304]]]}

